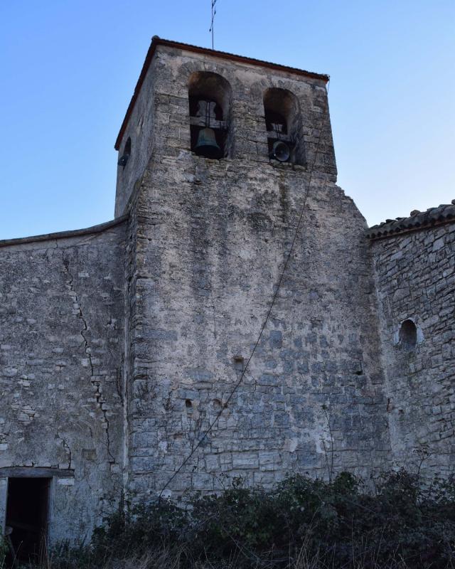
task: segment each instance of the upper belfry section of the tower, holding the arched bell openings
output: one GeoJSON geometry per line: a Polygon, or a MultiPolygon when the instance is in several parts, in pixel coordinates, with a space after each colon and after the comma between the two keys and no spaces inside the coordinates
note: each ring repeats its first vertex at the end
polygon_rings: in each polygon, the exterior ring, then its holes
{"type": "Polygon", "coordinates": [[[320,142],[315,167],[335,180],[327,81],[327,75],[154,36],[115,144],[115,215],[125,213],[149,159],[164,149],[207,159],[276,160],[306,169],[320,142]],[[172,78],[172,69],[161,63],[171,52],[182,73],[172,78]],[[210,64],[198,65],[203,61],[210,64]]]}

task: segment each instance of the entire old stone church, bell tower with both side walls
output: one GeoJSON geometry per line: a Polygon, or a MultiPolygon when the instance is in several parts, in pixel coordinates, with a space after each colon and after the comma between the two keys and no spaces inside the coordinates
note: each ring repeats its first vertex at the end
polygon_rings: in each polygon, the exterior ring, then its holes
{"type": "Polygon", "coordinates": [[[453,472],[455,201],[368,229],[327,82],[155,36],[114,220],[0,242],[16,546],[90,538],[122,494],[453,472]]]}

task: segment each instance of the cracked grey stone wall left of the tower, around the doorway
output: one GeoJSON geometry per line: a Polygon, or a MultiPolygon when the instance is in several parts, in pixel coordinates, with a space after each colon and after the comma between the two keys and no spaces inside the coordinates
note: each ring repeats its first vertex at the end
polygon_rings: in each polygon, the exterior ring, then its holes
{"type": "Polygon", "coordinates": [[[50,473],[51,541],[84,538],[122,491],[124,223],[0,245],[0,523],[50,473]]]}

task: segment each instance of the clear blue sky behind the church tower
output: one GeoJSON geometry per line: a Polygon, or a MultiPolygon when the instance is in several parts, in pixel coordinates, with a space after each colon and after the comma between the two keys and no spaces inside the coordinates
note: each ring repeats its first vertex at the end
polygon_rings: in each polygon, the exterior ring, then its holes
{"type": "MultiPolygon", "coordinates": [[[[368,223],[455,198],[454,0],[218,0],[215,49],[331,75],[338,183],[368,223]]],[[[210,47],[210,0],[0,1],[0,239],[112,219],[151,36],[210,47]]]]}

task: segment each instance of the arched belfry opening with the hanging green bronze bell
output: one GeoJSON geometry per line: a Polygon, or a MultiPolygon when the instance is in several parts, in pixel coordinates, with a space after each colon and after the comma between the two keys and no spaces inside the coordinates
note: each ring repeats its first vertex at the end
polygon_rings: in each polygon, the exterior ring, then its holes
{"type": "Polygon", "coordinates": [[[232,89],[217,73],[198,71],[188,81],[191,151],[205,158],[229,157],[232,89]]]}

